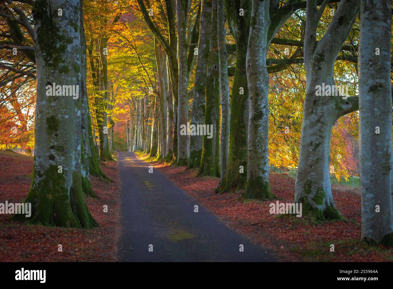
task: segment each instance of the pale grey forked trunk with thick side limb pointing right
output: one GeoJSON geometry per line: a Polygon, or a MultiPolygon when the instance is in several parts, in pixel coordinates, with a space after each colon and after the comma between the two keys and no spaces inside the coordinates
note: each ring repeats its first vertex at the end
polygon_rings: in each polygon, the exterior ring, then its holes
{"type": "Polygon", "coordinates": [[[316,29],[326,3],[317,9],[315,0],[307,1],[304,42],[307,82],[295,202],[303,203],[303,215],[310,214],[320,221],[342,219],[330,184],[331,132],[340,116],[358,109],[358,98],[343,99],[340,94],[319,96],[317,86],[334,88],[334,61],[359,12],[359,2],[340,2],[326,33],[317,41],[316,29]]]}

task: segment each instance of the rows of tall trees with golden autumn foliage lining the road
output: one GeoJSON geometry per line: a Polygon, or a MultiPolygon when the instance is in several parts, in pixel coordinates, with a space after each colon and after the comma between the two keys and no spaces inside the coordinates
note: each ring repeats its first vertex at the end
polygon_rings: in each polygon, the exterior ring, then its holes
{"type": "Polygon", "coordinates": [[[391,1],[5,0],[0,17],[2,98],[37,96],[31,223],[97,225],[84,195],[117,121],[127,151],[219,177],[220,194],[274,199],[270,165],[292,164],[317,221],[343,218],[331,167],[358,153],[362,239],[393,245],[391,1]]]}

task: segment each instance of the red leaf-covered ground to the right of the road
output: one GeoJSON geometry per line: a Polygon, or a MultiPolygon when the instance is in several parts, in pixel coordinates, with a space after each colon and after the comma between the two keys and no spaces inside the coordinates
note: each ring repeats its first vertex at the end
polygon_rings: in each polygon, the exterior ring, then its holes
{"type": "MultiPolygon", "coordinates": [[[[371,246],[360,241],[361,203],[358,188],[333,186],[332,194],[342,221],[316,223],[309,219],[270,214],[275,201],[239,201],[242,190],[215,194],[219,178],[195,178],[196,169],[175,167],[148,159],[176,186],[184,190],[205,209],[219,217],[229,228],[248,237],[253,243],[275,252],[277,261],[393,261],[393,249],[371,246]],[[334,252],[331,252],[334,245],[334,252]]],[[[270,187],[279,202],[292,203],[295,179],[286,174],[271,174],[270,187]]]]}

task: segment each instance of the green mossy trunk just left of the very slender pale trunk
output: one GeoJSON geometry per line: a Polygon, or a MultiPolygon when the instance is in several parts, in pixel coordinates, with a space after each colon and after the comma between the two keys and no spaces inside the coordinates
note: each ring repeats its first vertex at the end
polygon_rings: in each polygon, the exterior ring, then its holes
{"type": "Polygon", "coordinates": [[[213,129],[210,130],[209,138],[207,134],[203,136],[202,156],[197,176],[220,177],[220,79],[217,49],[217,0],[212,1],[211,11],[204,124],[206,125],[206,131],[208,127],[213,129]]]}

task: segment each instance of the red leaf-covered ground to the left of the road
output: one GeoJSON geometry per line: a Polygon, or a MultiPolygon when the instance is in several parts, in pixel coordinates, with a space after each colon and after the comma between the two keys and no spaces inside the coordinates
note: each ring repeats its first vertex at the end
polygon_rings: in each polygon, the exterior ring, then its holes
{"type": "MultiPolygon", "coordinates": [[[[86,197],[90,213],[99,226],[91,230],[29,225],[8,221],[0,214],[0,261],[116,261],[119,226],[117,162],[101,164],[113,182],[91,177],[99,199],[86,197]],[[105,213],[103,206],[108,206],[105,213]],[[62,245],[62,252],[59,246],[62,245]]],[[[31,183],[33,158],[0,151],[0,203],[23,202],[31,183]]]]}

